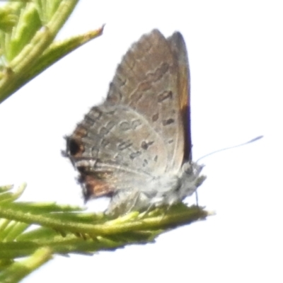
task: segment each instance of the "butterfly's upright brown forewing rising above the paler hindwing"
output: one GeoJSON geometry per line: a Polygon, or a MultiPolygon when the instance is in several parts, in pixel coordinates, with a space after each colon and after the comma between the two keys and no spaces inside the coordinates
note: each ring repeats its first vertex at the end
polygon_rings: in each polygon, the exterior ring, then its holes
{"type": "Polygon", "coordinates": [[[166,145],[166,172],[178,171],[183,163],[184,123],[190,125],[185,118],[188,79],[182,35],[174,33],[166,39],[153,30],[132,45],[110,83],[107,100],[139,112],[162,137],[166,145]]]}

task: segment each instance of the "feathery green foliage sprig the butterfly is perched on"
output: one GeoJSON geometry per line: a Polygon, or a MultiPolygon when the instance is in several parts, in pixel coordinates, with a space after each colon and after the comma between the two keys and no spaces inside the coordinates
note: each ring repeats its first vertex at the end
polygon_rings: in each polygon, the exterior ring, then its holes
{"type": "Polygon", "coordinates": [[[11,192],[11,186],[0,187],[0,282],[18,282],[54,254],[90,255],[131,243],[149,243],[168,229],[207,216],[201,207],[178,204],[111,219],[68,205],[15,202],[24,187],[16,192],[11,192]],[[23,257],[28,258],[17,260],[23,257]]]}

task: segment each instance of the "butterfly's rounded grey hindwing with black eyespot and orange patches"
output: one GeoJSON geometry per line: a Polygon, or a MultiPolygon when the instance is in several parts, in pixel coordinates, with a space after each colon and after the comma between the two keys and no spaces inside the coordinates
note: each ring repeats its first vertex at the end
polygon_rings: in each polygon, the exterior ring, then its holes
{"type": "Polygon", "coordinates": [[[167,157],[142,115],[108,102],[93,107],[67,138],[67,155],[81,174],[86,199],[144,186],[165,171],[167,157]]]}

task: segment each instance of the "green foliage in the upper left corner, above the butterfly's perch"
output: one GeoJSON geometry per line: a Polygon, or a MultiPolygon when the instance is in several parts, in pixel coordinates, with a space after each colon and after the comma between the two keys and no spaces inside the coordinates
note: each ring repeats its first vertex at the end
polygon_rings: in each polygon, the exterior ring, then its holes
{"type": "Polygon", "coordinates": [[[0,9],[0,103],[103,28],[54,42],[79,0],[31,0],[0,9]]]}

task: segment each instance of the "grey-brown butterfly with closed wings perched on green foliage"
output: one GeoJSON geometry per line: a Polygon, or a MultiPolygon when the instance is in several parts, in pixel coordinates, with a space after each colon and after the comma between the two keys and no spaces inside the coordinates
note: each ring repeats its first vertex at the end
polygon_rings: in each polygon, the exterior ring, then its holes
{"type": "Polygon", "coordinates": [[[183,36],[152,30],[129,48],[107,98],[67,137],[85,200],[109,196],[108,214],[171,206],[201,185],[192,161],[190,71],[183,36]]]}

